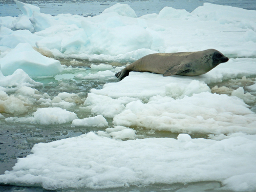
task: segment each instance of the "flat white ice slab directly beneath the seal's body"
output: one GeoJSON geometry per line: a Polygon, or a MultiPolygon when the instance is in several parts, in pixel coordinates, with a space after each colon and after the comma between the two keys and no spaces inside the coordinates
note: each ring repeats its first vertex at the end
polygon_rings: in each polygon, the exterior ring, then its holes
{"type": "Polygon", "coordinates": [[[129,76],[115,83],[104,84],[102,90],[92,89],[91,92],[108,95],[112,98],[138,97],[150,98],[155,95],[168,95],[174,98],[191,96],[194,93],[209,92],[209,87],[193,77],[169,76],[148,72],[130,72],[129,76]],[[118,91],[115,91],[118,90],[118,91]]]}

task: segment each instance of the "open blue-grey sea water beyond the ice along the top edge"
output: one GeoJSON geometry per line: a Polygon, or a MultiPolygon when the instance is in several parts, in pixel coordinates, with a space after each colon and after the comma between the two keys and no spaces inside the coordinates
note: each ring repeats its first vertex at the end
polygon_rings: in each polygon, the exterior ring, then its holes
{"type": "MultiPolygon", "coordinates": [[[[32,5],[40,7],[41,13],[57,15],[61,13],[71,13],[77,15],[98,15],[104,9],[113,6],[116,3],[125,3],[135,10],[138,16],[150,13],[159,13],[164,7],[173,7],[175,9],[185,9],[188,12],[193,11],[205,2],[228,5],[233,7],[240,7],[248,10],[256,10],[256,5],[253,1],[196,1],[196,0],[182,0],[182,1],[26,1],[32,5]]],[[[18,16],[22,12],[17,8],[13,1],[2,1],[0,6],[0,16],[18,16]]]]}

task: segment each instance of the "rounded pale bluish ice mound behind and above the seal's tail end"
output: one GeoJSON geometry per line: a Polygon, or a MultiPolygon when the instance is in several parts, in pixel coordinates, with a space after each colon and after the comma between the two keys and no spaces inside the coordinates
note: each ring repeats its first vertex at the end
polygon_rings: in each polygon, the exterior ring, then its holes
{"type": "Polygon", "coordinates": [[[138,49],[150,49],[151,45],[152,35],[138,25],[101,28],[90,37],[91,54],[125,54],[138,49]]]}

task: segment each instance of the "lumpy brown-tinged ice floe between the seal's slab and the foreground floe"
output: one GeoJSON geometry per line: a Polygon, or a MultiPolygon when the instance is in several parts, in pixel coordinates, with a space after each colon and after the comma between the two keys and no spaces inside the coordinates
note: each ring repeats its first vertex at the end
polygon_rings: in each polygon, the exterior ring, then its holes
{"type": "Polygon", "coordinates": [[[256,133],[256,115],[243,100],[209,92],[177,100],[154,96],[148,103],[133,101],[113,123],[175,133],[256,133]]]}

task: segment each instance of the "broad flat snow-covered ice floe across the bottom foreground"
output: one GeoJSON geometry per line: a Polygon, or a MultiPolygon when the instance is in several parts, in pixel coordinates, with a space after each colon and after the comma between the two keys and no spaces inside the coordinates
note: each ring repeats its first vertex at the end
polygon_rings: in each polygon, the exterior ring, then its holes
{"type": "Polygon", "coordinates": [[[255,135],[241,134],[221,141],[191,139],[188,135],[180,135],[178,140],[121,141],[91,132],[35,144],[33,154],[19,158],[13,170],[0,176],[0,182],[46,189],[106,189],[220,181],[226,189],[239,186],[242,191],[254,191],[255,147],[255,135]]]}

